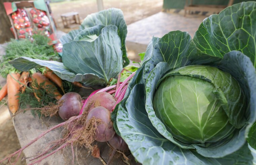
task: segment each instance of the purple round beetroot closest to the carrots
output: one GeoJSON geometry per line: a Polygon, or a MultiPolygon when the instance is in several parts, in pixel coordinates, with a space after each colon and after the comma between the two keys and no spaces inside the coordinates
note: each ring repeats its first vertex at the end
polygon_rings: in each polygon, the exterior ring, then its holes
{"type": "Polygon", "coordinates": [[[63,101],[63,104],[59,109],[59,115],[63,120],[77,116],[82,108],[82,98],[75,92],[66,93],[61,97],[60,101],[63,101]]]}

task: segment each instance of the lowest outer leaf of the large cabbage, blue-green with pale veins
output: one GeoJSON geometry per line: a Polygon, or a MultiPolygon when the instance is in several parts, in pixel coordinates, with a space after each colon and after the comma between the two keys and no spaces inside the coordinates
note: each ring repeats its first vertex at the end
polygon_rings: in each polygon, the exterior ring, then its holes
{"type": "Polygon", "coordinates": [[[152,125],[145,110],[144,85],[137,84],[127,98],[125,107],[119,105],[117,126],[122,138],[136,160],[147,165],[233,165],[252,164],[246,145],[221,159],[206,158],[193,150],[182,149],[164,138],[152,125]]]}

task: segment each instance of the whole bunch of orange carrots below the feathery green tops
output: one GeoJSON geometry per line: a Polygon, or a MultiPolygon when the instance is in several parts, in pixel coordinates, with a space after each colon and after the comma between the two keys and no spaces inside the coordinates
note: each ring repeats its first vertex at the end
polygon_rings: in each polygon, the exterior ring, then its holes
{"type": "MultiPolygon", "coordinates": [[[[28,84],[30,83],[30,87],[34,91],[34,96],[36,97],[37,101],[40,102],[40,98],[36,94],[36,84],[42,85],[42,88],[46,90],[47,94],[54,94],[55,98],[57,100],[60,100],[62,95],[60,92],[55,88],[55,90],[51,91],[46,88],[47,86],[54,86],[51,81],[56,84],[60,89],[64,92],[63,85],[62,85],[62,79],[58,77],[56,74],[53,73],[52,70],[46,69],[43,74],[40,72],[35,72],[30,76],[29,72],[22,72],[20,73],[9,73],[6,77],[6,84],[3,86],[3,88],[0,90],[0,101],[7,95],[7,102],[8,102],[8,108],[11,111],[11,113],[14,115],[18,109],[19,109],[19,93],[24,93],[26,88],[28,87],[28,84]]],[[[82,84],[79,82],[74,82],[73,85],[77,87],[82,87],[82,84]]]]}

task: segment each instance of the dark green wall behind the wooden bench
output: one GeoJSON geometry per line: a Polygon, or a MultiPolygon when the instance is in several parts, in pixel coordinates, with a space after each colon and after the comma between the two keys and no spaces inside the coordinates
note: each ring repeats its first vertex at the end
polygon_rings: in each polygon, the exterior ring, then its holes
{"type": "MultiPolygon", "coordinates": [[[[249,0],[234,0],[234,3],[239,3],[249,0]]],[[[252,1],[252,0],[251,0],[252,1]]],[[[186,0],[163,0],[164,9],[183,9],[185,6],[186,0]]],[[[193,4],[208,4],[208,5],[227,5],[228,0],[193,0],[193,4]]]]}

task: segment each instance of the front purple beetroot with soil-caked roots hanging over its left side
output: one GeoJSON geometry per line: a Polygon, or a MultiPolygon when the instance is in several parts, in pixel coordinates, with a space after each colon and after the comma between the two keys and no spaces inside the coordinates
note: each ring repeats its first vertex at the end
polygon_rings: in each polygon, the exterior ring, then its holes
{"type": "Polygon", "coordinates": [[[113,122],[110,118],[110,111],[104,107],[95,107],[88,113],[86,117],[86,124],[90,120],[100,119],[101,124],[96,127],[95,140],[98,142],[106,142],[112,139],[115,134],[113,122]]]}

